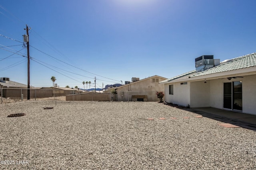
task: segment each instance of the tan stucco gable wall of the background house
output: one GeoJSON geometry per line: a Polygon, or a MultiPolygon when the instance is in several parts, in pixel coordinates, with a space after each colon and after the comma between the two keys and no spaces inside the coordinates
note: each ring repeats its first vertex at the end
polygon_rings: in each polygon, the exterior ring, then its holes
{"type": "MultiPolygon", "coordinates": [[[[165,80],[160,77],[159,82],[165,80]]],[[[152,78],[147,78],[145,80],[140,80],[131,84],[120,86],[116,89],[118,94],[118,101],[132,101],[132,95],[147,95],[148,102],[159,101],[156,97],[156,91],[164,92],[164,84],[152,83],[152,78]],[[123,95],[122,95],[123,92],[123,95]]]]}

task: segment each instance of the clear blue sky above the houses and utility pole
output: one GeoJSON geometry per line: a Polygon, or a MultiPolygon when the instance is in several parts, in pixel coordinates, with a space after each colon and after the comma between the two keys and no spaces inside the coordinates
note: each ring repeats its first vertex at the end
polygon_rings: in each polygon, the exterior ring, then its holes
{"type": "Polygon", "coordinates": [[[0,77],[27,84],[28,24],[32,86],[52,86],[52,76],[80,88],[94,77],[96,88],[171,78],[194,70],[201,55],[224,61],[256,52],[255,7],[256,0],[1,0],[0,77]]]}

